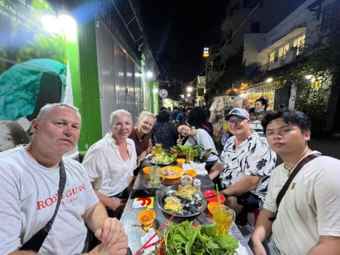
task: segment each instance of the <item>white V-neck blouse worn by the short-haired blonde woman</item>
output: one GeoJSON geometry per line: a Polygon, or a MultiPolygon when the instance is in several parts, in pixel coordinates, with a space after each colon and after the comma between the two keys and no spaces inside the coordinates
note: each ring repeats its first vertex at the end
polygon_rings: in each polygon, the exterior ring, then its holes
{"type": "Polygon", "coordinates": [[[82,164],[93,188],[104,195],[119,194],[127,187],[128,178],[133,176],[137,155],[133,140],[126,138],[126,144],[128,159],[125,162],[112,133],[107,133],[87,150],[82,164]]]}

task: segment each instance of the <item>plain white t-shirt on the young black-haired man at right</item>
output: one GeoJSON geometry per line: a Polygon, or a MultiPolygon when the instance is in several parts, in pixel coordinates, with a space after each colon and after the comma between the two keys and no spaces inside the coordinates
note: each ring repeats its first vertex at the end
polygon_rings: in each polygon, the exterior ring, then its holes
{"type": "MultiPolygon", "coordinates": [[[[287,174],[284,164],[272,171],[263,208],[276,212],[276,197],[287,174]]],[[[272,237],[282,254],[305,255],[317,245],[320,235],[340,236],[339,183],[338,159],[320,156],[300,169],[272,224],[272,237]]]]}

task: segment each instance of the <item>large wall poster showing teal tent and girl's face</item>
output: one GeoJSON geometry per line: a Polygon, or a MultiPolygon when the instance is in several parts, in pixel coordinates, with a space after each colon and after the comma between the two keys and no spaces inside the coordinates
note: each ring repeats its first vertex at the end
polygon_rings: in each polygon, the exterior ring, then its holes
{"type": "Polygon", "coordinates": [[[72,103],[57,20],[54,0],[0,0],[0,150],[5,141],[27,143],[22,130],[30,137],[46,103],[72,103]]]}

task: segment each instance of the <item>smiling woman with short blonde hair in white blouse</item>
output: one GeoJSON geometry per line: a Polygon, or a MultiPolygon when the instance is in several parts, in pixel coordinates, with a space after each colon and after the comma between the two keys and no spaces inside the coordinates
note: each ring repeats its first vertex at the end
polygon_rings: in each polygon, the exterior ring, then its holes
{"type": "Polygon", "coordinates": [[[121,194],[131,185],[137,161],[134,142],[128,138],[132,129],[131,114],[122,109],[113,111],[110,127],[111,132],[90,146],[82,164],[100,202],[121,214],[125,206],[121,194]]]}

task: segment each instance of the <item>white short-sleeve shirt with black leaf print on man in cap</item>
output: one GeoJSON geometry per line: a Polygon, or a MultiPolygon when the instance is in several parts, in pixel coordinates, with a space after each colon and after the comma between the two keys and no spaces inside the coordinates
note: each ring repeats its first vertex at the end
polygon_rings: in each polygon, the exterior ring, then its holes
{"type": "Polygon", "coordinates": [[[275,167],[276,154],[264,137],[255,131],[241,143],[235,146],[235,136],[231,136],[225,143],[219,163],[223,170],[219,175],[222,187],[226,188],[241,180],[244,175],[261,176],[255,190],[251,192],[264,199],[271,170],[275,167]]]}

